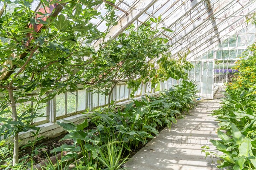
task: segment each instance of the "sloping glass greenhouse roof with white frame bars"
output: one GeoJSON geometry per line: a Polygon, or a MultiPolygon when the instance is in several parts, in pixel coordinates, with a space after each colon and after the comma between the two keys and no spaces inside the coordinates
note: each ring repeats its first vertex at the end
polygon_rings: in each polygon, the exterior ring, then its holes
{"type": "MultiPolygon", "coordinates": [[[[169,39],[173,57],[190,49],[189,55],[204,53],[214,48],[226,34],[237,32],[246,25],[248,14],[256,9],[256,0],[116,0],[116,6],[128,12],[128,16],[117,10],[118,24],[110,29],[112,38],[121,34],[128,25],[135,23],[136,28],[151,17],[161,16],[158,28],[169,28],[174,32],[161,30],[159,35],[169,39]]],[[[101,5],[101,14],[106,14],[101,5]]],[[[102,20],[97,23],[100,31],[106,26],[102,20]]],[[[155,28],[155,24],[151,25],[155,28]]],[[[135,28],[135,29],[136,29],[135,28]]],[[[98,40],[99,41],[99,40],[98,40]]],[[[99,42],[93,42],[97,47],[99,42]]],[[[188,56],[188,58],[191,56],[188,56]]]]}

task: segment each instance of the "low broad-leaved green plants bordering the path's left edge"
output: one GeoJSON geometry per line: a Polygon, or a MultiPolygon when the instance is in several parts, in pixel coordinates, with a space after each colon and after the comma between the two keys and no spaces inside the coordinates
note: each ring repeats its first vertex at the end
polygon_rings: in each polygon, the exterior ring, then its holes
{"type": "Polygon", "coordinates": [[[72,146],[66,144],[55,148],[57,151],[67,151],[68,157],[63,156],[61,161],[67,158],[78,159],[79,154],[84,169],[109,169],[116,170],[127,160],[124,153],[139,144],[146,144],[154,135],[158,135],[160,127],[171,128],[172,122],[183,111],[191,109],[195,102],[196,87],[192,82],[183,80],[181,85],[176,85],[169,91],[163,91],[158,97],[142,97],[141,101],[134,100],[120,108],[102,109],[93,113],[92,121],[96,129],[83,130],[87,127],[87,120],[74,125],[71,122],[58,122],[69,132],[63,139],[72,139],[72,146]]]}

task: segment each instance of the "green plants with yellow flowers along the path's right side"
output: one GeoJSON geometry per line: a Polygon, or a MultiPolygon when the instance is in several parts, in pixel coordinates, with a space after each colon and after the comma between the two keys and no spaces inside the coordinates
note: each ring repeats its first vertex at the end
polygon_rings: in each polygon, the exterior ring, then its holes
{"type": "MultiPolygon", "coordinates": [[[[227,87],[222,108],[214,111],[218,116],[219,140],[212,144],[223,155],[209,153],[221,159],[219,168],[253,170],[256,168],[256,93],[255,44],[248,47],[237,64],[239,73],[227,87]]],[[[205,151],[205,150],[204,150],[205,151]]]]}

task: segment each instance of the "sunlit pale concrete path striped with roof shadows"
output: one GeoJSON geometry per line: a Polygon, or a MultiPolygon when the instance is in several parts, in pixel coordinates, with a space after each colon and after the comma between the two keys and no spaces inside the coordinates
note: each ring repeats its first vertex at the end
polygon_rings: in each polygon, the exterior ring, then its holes
{"type": "Polygon", "coordinates": [[[218,128],[215,118],[208,116],[220,108],[222,97],[219,93],[213,100],[198,102],[184,119],[172,124],[172,129],[163,129],[159,136],[152,139],[127,163],[128,170],[216,170],[216,160],[205,159],[201,147],[209,145],[215,151],[210,139],[217,139],[218,128]]]}

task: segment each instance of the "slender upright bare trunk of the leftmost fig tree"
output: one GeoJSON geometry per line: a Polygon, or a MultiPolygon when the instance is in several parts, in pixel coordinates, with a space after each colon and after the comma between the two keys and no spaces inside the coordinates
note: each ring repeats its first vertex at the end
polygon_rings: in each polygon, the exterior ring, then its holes
{"type": "MultiPolygon", "coordinates": [[[[11,105],[12,105],[12,120],[13,122],[17,121],[17,111],[16,111],[16,103],[15,99],[13,96],[13,89],[8,89],[9,93],[9,98],[11,100],[11,105]]],[[[19,161],[19,136],[18,133],[14,133],[14,147],[13,147],[13,159],[12,159],[12,165],[14,166],[15,164],[18,163],[19,161]]]]}

